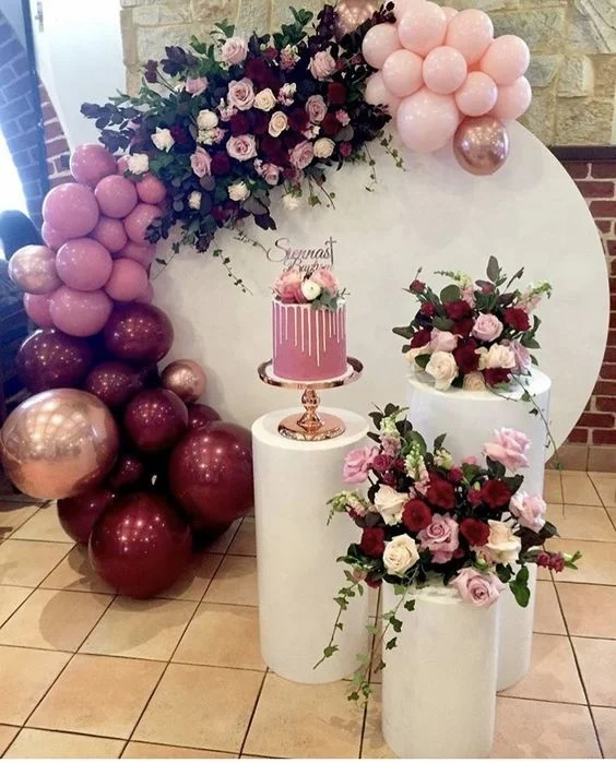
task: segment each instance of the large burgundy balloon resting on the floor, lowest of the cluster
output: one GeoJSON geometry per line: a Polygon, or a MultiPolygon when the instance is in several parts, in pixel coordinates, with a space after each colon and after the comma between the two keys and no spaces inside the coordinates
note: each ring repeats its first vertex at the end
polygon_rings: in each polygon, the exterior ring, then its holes
{"type": "Polygon", "coordinates": [[[90,536],[90,561],[125,596],[145,599],[168,588],[191,560],[191,533],[163,496],[117,498],[90,536]]]}

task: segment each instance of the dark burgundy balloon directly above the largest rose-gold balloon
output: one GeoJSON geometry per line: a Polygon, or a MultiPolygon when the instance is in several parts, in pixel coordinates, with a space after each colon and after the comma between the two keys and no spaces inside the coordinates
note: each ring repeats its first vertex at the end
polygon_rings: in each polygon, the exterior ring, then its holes
{"type": "Polygon", "coordinates": [[[31,392],[80,386],[94,363],[85,339],[57,329],[31,334],[17,351],[16,368],[31,392]]]}

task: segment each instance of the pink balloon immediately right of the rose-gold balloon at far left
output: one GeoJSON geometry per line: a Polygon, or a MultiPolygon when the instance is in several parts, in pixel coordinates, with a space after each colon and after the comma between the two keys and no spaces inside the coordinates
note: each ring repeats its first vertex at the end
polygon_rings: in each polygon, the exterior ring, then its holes
{"type": "Polygon", "coordinates": [[[80,291],[103,288],[114,261],[105,247],[92,238],[75,238],[60,247],[56,270],[67,286],[80,291]]]}

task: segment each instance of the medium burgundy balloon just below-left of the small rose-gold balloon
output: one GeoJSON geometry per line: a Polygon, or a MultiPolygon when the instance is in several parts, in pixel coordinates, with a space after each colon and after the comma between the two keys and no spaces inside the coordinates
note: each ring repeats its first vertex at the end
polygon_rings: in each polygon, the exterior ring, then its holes
{"type": "Polygon", "coordinates": [[[125,412],[125,429],[140,451],[155,453],[171,448],[188,427],[188,410],[169,390],[144,390],[125,412]]]}

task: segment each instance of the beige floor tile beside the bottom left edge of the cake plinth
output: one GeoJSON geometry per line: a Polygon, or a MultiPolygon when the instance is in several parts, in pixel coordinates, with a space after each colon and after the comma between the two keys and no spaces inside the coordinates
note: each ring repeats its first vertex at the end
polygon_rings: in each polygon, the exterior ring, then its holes
{"type": "Polygon", "coordinates": [[[264,670],[259,648],[259,610],[230,604],[201,604],[174,661],[264,670]]]}

